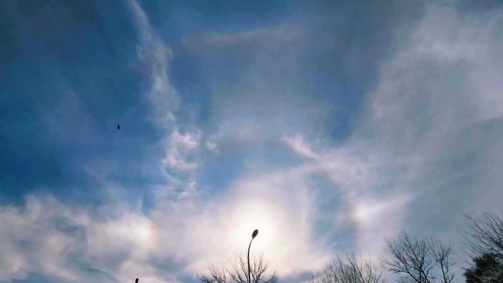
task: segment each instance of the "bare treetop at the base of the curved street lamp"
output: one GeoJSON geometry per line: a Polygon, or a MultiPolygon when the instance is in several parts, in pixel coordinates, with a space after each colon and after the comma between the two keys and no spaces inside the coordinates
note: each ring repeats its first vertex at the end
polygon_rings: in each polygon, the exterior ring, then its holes
{"type": "MultiPolygon", "coordinates": [[[[274,270],[272,275],[266,275],[269,263],[264,260],[264,255],[254,255],[250,257],[251,282],[254,283],[276,283],[278,275],[274,270]]],[[[248,282],[248,261],[243,254],[235,254],[230,264],[220,261],[220,266],[209,263],[207,272],[198,273],[198,279],[203,283],[247,283],[248,282]]]]}

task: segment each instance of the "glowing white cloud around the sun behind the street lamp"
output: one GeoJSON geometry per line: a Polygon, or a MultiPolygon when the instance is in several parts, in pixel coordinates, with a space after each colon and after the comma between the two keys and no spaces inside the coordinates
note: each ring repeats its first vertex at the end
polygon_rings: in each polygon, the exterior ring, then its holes
{"type": "Polygon", "coordinates": [[[160,250],[170,250],[190,262],[190,272],[202,270],[207,261],[227,259],[234,251],[244,250],[254,229],[260,232],[252,251],[264,251],[280,274],[298,274],[325,259],[323,244],[311,239],[312,196],[303,180],[291,172],[241,180],[227,194],[204,205],[164,205],[153,218],[164,227],[162,238],[172,241],[161,244],[160,250]]]}

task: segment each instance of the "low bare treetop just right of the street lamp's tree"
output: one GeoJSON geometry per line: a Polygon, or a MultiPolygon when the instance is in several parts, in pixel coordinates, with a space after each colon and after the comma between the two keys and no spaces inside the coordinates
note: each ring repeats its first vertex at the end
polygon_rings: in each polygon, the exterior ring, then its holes
{"type": "Polygon", "coordinates": [[[375,266],[372,259],[357,257],[353,250],[344,256],[331,258],[316,273],[311,273],[308,283],[385,283],[383,269],[375,266]]]}

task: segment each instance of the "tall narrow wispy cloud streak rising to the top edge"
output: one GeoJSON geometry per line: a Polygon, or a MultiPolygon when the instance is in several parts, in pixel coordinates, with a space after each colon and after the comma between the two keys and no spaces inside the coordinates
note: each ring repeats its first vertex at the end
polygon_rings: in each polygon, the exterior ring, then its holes
{"type": "Polygon", "coordinates": [[[166,155],[162,159],[163,165],[172,170],[172,173],[166,174],[170,183],[160,188],[156,196],[159,198],[176,196],[179,199],[194,197],[197,195],[195,174],[199,167],[196,156],[202,133],[197,129],[181,133],[182,123],[176,117],[181,99],[167,76],[171,52],[154,34],[138,3],[134,0],[128,3],[141,35],[138,57],[149,82],[145,91],[154,108],[154,120],[166,135],[164,141],[166,155]]]}

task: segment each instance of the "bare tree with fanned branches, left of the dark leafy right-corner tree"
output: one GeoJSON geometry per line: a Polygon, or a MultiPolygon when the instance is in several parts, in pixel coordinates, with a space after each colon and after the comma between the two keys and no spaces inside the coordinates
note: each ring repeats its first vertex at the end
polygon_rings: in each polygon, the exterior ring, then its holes
{"type": "Polygon", "coordinates": [[[388,271],[398,275],[398,282],[450,283],[454,278],[450,272],[455,264],[451,244],[434,236],[420,239],[402,230],[395,239],[385,240],[384,253],[381,260],[388,271]]]}

